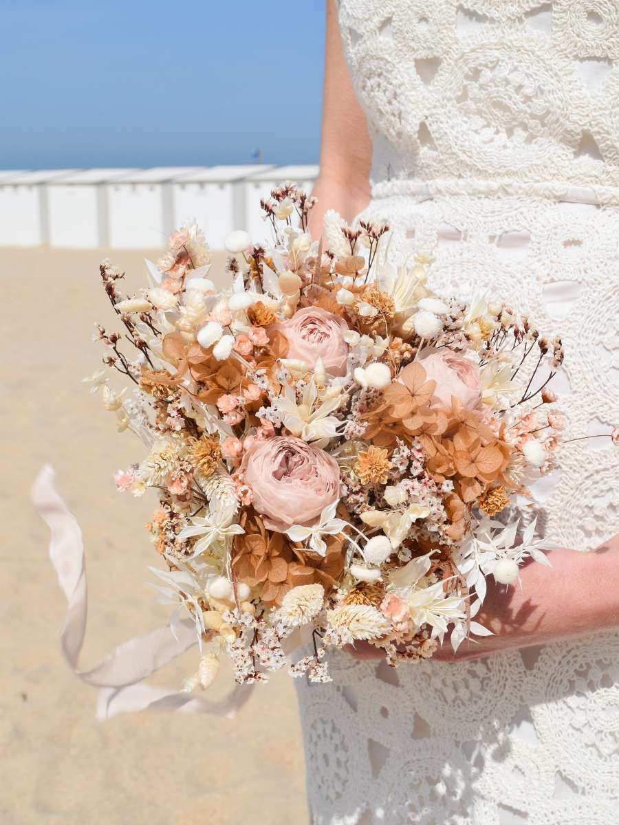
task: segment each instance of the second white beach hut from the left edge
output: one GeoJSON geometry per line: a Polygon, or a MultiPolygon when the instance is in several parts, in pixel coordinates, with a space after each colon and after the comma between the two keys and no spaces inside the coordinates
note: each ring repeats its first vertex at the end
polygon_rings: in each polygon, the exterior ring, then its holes
{"type": "Polygon", "coordinates": [[[84,169],[47,184],[50,245],[94,249],[110,245],[107,183],[138,169],[84,169]]]}

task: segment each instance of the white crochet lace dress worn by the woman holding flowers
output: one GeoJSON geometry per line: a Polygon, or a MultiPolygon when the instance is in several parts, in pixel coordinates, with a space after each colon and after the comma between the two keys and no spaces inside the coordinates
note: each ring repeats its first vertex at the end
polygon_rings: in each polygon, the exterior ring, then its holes
{"type": "MultiPolygon", "coordinates": [[[[340,0],[375,156],[368,215],[433,286],[559,332],[573,436],[619,413],[617,0],[340,0]]],[[[352,136],[353,138],[354,136],[352,136]]],[[[546,534],[619,532],[609,439],[564,450],[546,534]]],[[[569,606],[566,606],[569,610],[569,606]]],[[[619,634],[478,662],[330,656],[298,684],[316,825],[616,825],[619,634]]]]}

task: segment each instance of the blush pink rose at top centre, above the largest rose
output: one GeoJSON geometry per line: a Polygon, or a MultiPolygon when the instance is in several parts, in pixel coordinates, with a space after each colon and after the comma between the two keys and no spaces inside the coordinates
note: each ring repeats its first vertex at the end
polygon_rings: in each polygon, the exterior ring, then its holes
{"type": "Polygon", "coordinates": [[[322,358],[329,375],[346,375],[348,345],[344,334],[348,327],[343,318],[322,307],[305,307],[272,329],[286,337],[287,358],[305,361],[310,367],[322,358]]]}

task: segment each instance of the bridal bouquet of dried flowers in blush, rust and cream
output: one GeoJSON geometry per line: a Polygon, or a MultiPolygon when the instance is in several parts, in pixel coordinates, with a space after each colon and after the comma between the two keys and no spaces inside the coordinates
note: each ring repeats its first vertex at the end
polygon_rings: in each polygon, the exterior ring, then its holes
{"type": "Polygon", "coordinates": [[[158,598],[201,648],[187,691],[222,652],[242,683],[285,665],[330,681],[327,648],[361,640],[392,665],[456,650],[489,634],[475,621],[487,577],[547,563],[535,522],[508,514],[554,464],[560,340],[499,299],[437,297],[428,257],[389,266],[386,225],[328,213],[312,243],[313,205],[272,191],[272,245],[232,233],[216,281],[193,223],[136,295],[101,266],[124,330],[97,326],[90,380],[144,443],[116,485],[157,492],[158,598]]]}

